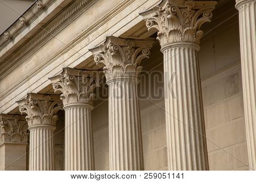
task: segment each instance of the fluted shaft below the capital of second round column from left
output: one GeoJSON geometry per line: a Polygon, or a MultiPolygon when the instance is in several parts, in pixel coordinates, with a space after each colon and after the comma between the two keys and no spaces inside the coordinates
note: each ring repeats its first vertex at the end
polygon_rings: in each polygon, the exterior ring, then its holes
{"type": "Polygon", "coordinates": [[[94,170],[92,109],[93,106],[89,104],[76,104],[64,107],[65,170],[94,170]]]}

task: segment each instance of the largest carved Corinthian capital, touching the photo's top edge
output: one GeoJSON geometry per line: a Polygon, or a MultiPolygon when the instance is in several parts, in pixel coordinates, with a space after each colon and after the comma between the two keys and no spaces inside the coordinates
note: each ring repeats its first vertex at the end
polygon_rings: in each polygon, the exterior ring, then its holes
{"type": "Polygon", "coordinates": [[[148,30],[158,31],[160,45],[173,43],[200,43],[204,32],[200,30],[210,22],[216,1],[163,0],[144,13],[148,30]]]}

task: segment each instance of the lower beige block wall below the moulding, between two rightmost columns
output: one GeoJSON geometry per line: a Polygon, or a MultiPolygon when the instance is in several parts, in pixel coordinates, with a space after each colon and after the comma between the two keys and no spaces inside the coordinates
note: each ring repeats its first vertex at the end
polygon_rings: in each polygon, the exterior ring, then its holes
{"type": "Polygon", "coordinates": [[[210,169],[247,169],[240,64],[203,82],[210,169]]]}

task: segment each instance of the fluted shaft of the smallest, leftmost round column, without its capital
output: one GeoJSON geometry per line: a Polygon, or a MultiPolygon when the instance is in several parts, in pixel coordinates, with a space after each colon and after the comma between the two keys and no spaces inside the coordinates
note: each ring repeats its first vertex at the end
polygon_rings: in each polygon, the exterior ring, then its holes
{"type": "Polygon", "coordinates": [[[53,171],[55,126],[40,125],[28,128],[30,130],[30,171],[53,171]]]}

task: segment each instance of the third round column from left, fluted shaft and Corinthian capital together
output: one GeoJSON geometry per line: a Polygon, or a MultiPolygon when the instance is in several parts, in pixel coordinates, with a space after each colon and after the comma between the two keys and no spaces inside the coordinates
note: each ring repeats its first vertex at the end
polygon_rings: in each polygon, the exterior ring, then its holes
{"type": "Polygon", "coordinates": [[[110,170],[143,170],[141,116],[137,98],[139,66],[150,55],[152,42],[115,37],[91,49],[104,65],[109,85],[110,170]]]}

